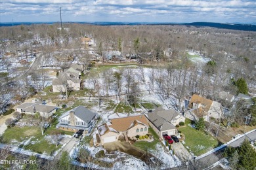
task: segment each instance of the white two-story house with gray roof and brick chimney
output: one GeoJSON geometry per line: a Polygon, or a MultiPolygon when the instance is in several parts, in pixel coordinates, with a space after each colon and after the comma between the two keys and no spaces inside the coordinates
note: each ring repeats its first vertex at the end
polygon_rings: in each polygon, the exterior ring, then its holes
{"type": "Polygon", "coordinates": [[[95,120],[97,118],[98,114],[96,112],[79,106],[62,114],[58,118],[59,123],[56,127],[68,131],[76,131],[77,129],[91,131],[93,126],[95,126],[95,120]]]}

